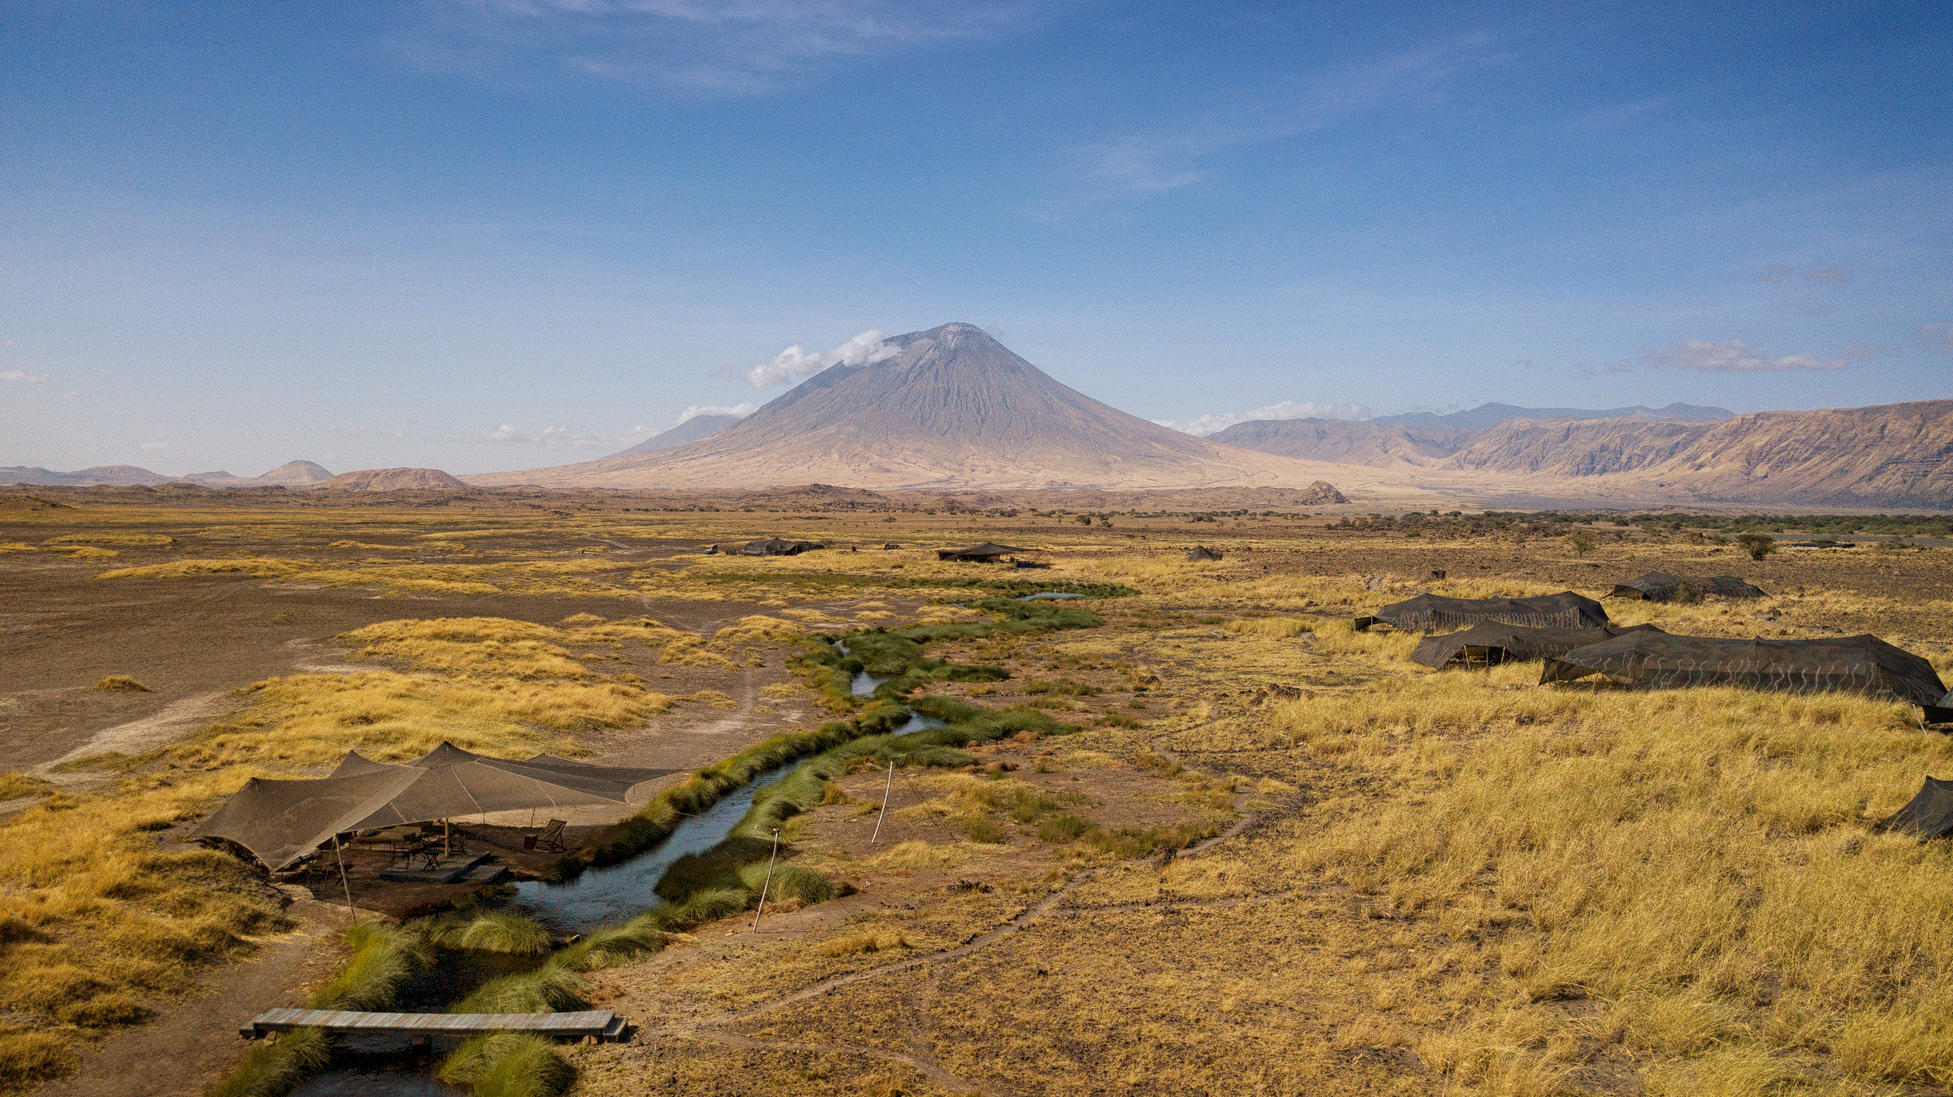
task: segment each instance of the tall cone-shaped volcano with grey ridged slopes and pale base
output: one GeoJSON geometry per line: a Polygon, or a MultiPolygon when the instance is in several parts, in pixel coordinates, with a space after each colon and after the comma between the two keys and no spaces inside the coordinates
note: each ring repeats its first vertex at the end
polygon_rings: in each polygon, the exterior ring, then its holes
{"type": "Polygon", "coordinates": [[[1203,441],[1060,385],[971,324],[887,340],[711,437],[471,476],[564,488],[1305,486],[1328,467],[1203,441]]]}

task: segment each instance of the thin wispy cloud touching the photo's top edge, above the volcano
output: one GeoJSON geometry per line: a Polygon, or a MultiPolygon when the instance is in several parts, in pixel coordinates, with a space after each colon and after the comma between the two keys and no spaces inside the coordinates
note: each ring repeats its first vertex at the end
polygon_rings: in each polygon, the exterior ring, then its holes
{"type": "Polygon", "coordinates": [[[424,68],[541,59],[580,76],[725,100],[818,82],[852,61],[1023,31],[1037,0],[465,0],[395,49],[424,68]]]}

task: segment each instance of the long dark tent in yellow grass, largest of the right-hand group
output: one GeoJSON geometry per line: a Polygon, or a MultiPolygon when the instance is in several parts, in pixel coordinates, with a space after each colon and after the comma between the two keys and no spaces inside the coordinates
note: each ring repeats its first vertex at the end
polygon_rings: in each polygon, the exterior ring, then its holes
{"type": "Polygon", "coordinates": [[[1539,681],[1603,673],[1623,685],[1742,685],[1785,693],[1861,693],[1937,705],[1947,687],[1933,666],[1877,636],[1726,640],[1631,632],[1549,658],[1539,681]]]}

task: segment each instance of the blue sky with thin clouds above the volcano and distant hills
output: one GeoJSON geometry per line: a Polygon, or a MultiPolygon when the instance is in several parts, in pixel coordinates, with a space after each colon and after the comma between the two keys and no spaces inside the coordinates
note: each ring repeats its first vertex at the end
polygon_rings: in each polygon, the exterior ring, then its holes
{"type": "Polygon", "coordinates": [[[1203,429],[1953,396],[1949,74],[1941,0],[12,0],[0,465],[557,465],[947,320],[1203,429]]]}

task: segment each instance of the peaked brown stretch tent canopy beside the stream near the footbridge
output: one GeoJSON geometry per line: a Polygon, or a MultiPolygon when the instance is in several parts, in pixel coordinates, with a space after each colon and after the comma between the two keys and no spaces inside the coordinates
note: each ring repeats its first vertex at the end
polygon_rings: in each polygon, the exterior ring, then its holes
{"type": "Polygon", "coordinates": [[[348,753],[330,777],[250,779],[191,837],[232,841],[266,867],[283,869],[338,833],[525,808],[625,804],[633,785],[666,773],[674,771],[586,765],[547,753],[488,757],[453,744],[406,765],[348,753]]]}

